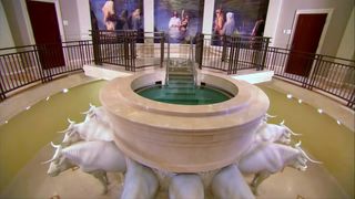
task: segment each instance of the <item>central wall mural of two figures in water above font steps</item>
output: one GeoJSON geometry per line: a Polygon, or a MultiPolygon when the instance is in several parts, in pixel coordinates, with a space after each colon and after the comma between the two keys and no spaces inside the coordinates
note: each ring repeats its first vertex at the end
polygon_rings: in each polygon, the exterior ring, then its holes
{"type": "Polygon", "coordinates": [[[169,34],[171,43],[189,43],[202,31],[204,0],[154,0],[154,30],[169,34]]]}

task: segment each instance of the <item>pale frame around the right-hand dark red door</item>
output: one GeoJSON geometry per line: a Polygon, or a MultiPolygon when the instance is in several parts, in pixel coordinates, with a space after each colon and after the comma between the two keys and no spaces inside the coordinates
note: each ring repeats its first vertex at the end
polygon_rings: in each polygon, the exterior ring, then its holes
{"type": "Polygon", "coordinates": [[[315,52],[316,54],[320,54],[321,50],[323,48],[325,34],[327,33],[328,25],[329,25],[332,15],[333,15],[333,10],[334,9],[306,9],[306,10],[297,9],[296,13],[295,13],[295,17],[294,17],[294,20],[293,20],[293,24],[292,24],[292,29],[291,29],[292,30],[291,31],[291,36],[288,38],[288,42],[287,42],[287,49],[292,48],[292,43],[293,43],[294,34],[296,32],[296,24],[297,24],[300,14],[326,13],[325,23],[324,23],[323,31],[322,31],[322,34],[321,34],[321,38],[320,38],[317,50],[315,52]]]}

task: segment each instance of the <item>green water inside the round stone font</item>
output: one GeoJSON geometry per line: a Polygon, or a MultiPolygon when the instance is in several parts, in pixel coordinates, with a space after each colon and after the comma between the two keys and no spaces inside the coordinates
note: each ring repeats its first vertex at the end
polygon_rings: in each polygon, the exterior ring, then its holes
{"type": "Polygon", "coordinates": [[[233,95],[207,85],[195,86],[191,82],[169,81],[169,85],[153,85],[135,91],[139,95],[169,104],[205,105],[227,101],[233,95]]]}

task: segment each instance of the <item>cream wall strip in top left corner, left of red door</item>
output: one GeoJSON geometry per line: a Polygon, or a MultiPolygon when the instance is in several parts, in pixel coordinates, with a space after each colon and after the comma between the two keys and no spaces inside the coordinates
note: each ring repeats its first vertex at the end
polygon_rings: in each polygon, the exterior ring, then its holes
{"type": "Polygon", "coordinates": [[[8,23],[7,14],[4,13],[2,2],[0,1],[0,49],[14,46],[11,30],[8,23]]]}

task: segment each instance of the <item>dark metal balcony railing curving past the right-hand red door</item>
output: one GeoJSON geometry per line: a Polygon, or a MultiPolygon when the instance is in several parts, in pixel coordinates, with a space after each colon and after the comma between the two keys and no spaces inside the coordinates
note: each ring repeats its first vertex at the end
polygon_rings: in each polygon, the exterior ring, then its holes
{"type": "Polygon", "coordinates": [[[274,71],[276,77],[314,92],[336,96],[343,100],[346,106],[355,109],[354,60],[278,48],[268,48],[265,60],[265,67],[274,71]],[[301,60],[300,64],[310,65],[310,70],[302,75],[287,72],[291,56],[301,60]]]}

